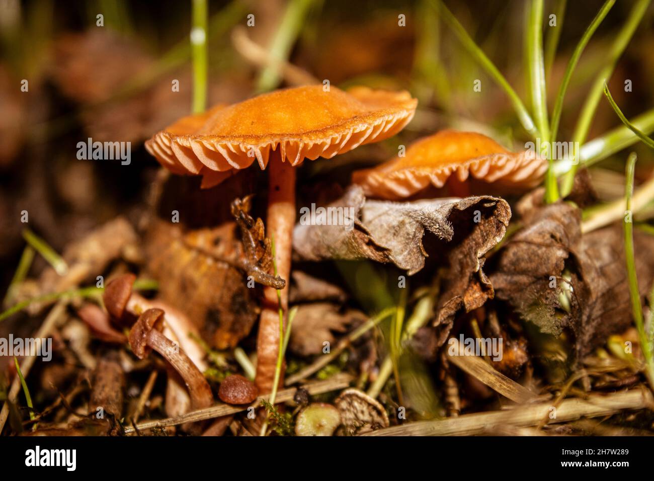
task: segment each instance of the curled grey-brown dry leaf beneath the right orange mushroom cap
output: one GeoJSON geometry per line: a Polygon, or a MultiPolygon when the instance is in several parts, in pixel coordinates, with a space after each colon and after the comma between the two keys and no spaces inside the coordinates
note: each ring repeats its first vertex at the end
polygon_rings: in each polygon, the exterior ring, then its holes
{"type": "Polygon", "coordinates": [[[506,232],[511,218],[506,201],[478,196],[381,202],[366,200],[354,185],[328,207],[344,210],[327,209],[327,219],[343,212],[345,227],[352,228],[300,222],[293,241],[299,260],[368,258],[392,262],[411,275],[423,268],[428,256],[422,243],[425,230],[434,234],[432,252],[449,265],[434,320],[439,345],[445,342],[458,310],[470,312],[492,298],[492,285],[481,268],[485,254],[506,232]]]}

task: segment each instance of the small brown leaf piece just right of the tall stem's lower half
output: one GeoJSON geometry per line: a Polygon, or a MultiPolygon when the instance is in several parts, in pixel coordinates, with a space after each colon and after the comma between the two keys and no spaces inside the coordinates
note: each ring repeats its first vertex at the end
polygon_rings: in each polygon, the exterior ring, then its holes
{"type": "Polygon", "coordinates": [[[341,308],[329,302],[303,304],[293,320],[288,347],[298,355],[322,352],[324,342],[334,344],[334,332],[345,332],[349,325],[366,320],[364,313],[341,308]]]}

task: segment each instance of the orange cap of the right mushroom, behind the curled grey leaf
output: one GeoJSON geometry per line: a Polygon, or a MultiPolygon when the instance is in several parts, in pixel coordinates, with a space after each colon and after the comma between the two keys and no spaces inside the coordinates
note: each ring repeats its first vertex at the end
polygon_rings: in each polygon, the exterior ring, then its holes
{"type": "Polygon", "coordinates": [[[367,196],[399,200],[430,184],[443,187],[451,175],[459,181],[472,175],[503,187],[532,188],[546,170],[547,161],[533,151],[511,152],[483,134],[443,130],[413,143],[404,157],[354,172],[352,181],[367,196]]]}

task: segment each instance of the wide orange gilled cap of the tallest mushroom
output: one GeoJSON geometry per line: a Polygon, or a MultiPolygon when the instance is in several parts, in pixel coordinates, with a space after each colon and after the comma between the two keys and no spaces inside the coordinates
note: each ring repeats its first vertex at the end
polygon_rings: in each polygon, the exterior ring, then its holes
{"type": "Polygon", "coordinates": [[[387,139],[413,118],[416,106],[408,92],[288,88],[184,117],[145,147],[174,173],[203,175],[207,188],[254,160],[265,169],[271,152],[297,166],[387,139]]]}

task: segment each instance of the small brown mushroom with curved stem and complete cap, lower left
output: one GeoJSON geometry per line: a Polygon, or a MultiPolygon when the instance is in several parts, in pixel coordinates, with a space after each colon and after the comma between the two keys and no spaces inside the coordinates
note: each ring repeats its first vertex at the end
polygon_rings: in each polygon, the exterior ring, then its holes
{"type": "Polygon", "coordinates": [[[186,353],[162,334],[162,329],[163,310],[146,310],[129,331],[131,350],[139,359],[144,359],[152,349],[160,353],[186,383],[192,408],[201,409],[211,406],[213,395],[209,383],[186,353]]]}

